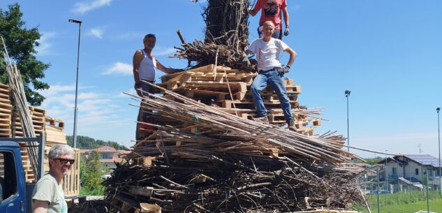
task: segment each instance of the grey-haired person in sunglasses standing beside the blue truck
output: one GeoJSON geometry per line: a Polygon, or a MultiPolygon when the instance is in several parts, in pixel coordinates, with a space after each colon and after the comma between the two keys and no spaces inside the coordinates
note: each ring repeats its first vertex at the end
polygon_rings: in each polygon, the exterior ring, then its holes
{"type": "Polygon", "coordinates": [[[68,145],[54,145],[47,156],[49,173],[38,180],[32,192],[32,212],[67,213],[68,205],[60,182],[75,163],[74,151],[68,145]]]}

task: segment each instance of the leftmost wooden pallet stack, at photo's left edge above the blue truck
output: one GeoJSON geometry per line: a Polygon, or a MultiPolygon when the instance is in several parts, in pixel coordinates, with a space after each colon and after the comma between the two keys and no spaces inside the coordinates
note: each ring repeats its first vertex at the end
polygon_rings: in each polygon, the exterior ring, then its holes
{"type": "Polygon", "coordinates": [[[0,137],[10,138],[10,115],[13,106],[9,101],[9,87],[0,84],[0,137]]]}

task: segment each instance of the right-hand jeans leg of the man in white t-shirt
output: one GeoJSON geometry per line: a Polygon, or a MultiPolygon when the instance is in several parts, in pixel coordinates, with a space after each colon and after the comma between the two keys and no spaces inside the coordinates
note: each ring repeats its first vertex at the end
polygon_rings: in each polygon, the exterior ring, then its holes
{"type": "Polygon", "coordinates": [[[272,85],[276,92],[279,102],[281,102],[282,111],[286,122],[293,120],[292,106],[287,96],[286,84],[284,83],[283,74],[279,74],[278,71],[270,71],[269,83],[272,85]]]}

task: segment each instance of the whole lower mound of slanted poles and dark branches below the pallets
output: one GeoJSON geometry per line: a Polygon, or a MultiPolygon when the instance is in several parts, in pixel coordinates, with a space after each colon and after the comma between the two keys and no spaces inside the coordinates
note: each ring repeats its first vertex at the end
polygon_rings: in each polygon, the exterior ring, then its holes
{"type": "MultiPolygon", "coordinates": [[[[143,123],[154,137],[139,141],[126,155],[129,163],[105,181],[109,204],[131,200],[163,212],[295,212],[364,204],[355,180],[362,169],[348,162],[360,158],[343,150],[340,140],[325,139],[330,134],[308,137],[167,89],[168,98],[142,94],[131,96],[157,121],[143,123]]],[[[110,205],[110,212],[117,210],[110,205]]]]}

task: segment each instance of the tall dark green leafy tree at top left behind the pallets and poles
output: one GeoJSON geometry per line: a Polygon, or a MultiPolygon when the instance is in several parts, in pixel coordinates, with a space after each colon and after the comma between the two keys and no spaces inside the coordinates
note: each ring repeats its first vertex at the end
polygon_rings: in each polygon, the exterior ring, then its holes
{"type": "MultiPolygon", "coordinates": [[[[35,56],[37,51],[34,47],[40,45],[37,40],[41,34],[36,27],[32,29],[24,27],[23,13],[20,12],[18,3],[11,4],[8,8],[8,11],[0,8],[0,35],[5,40],[10,58],[15,61],[22,74],[27,101],[31,105],[41,105],[45,97],[36,90],[49,89],[49,85],[39,79],[45,78],[44,71],[50,66],[38,61],[35,56]]],[[[0,47],[0,51],[3,51],[3,47],[0,47]]],[[[3,57],[0,57],[0,82],[8,83],[3,57]]]]}

